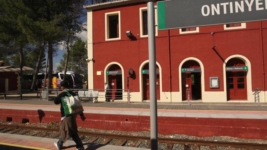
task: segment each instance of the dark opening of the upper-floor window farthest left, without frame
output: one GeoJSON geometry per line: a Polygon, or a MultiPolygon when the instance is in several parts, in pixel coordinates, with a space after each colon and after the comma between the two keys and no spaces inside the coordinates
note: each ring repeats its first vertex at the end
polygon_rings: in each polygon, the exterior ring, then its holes
{"type": "Polygon", "coordinates": [[[109,16],[109,38],[119,37],[119,15],[109,16]]]}

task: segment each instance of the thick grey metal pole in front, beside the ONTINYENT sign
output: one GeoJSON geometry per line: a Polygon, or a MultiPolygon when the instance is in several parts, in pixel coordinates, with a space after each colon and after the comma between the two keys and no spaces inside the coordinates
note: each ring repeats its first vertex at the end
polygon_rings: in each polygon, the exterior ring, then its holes
{"type": "Polygon", "coordinates": [[[150,144],[151,150],[158,149],[157,143],[157,87],[156,87],[156,42],[155,42],[155,6],[147,3],[149,91],[150,91],[150,144]]]}

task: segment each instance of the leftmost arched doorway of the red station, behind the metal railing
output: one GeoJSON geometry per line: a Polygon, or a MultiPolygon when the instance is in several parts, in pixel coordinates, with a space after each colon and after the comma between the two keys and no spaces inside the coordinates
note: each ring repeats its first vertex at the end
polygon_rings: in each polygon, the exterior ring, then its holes
{"type": "Polygon", "coordinates": [[[113,64],[106,71],[108,85],[110,85],[111,99],[122,99],[122,70],[119,65],[113,64]]]}

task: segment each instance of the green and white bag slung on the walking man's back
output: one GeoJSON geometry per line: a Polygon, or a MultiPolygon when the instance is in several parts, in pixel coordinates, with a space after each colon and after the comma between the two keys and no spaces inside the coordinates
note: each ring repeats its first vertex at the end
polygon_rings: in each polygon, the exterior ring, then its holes
{"type": "Polygon", "coordinates": [[[64,89],[64,91],[67,92],[68,95],[61,98],[65,116],[68,117],[82,113],[83,106],[80,98],[78,96],[72,96],[66,89],[64,89]]]}

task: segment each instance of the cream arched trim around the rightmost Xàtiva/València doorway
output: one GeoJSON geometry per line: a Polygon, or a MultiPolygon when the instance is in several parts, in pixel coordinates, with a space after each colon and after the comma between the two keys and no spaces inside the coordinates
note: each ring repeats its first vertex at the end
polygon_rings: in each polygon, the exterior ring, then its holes
{"type": "MultiPolygon", "coordinates": [[[[248,66],[248,71],[247,71],[247,98],[248,98],[248,101],[254,102],[254,98],[253,98],[253,95],[252,95],[252,78],[251,78],[252,68],[251,68],[250,61],[245,56],[232,55],[232,56],[229,56],[228,58],[225,59],[225,63],[223,63],[223,86],[224,86],[224,92],[226,92],[226,69],[225,69],[226,68],[226,63],[232,58],[241,59],[243,62],[245,62],[245,65],[248,66]]],[[[227,100],[227,95],[226,95],[225,99],[227,100]]]]}

